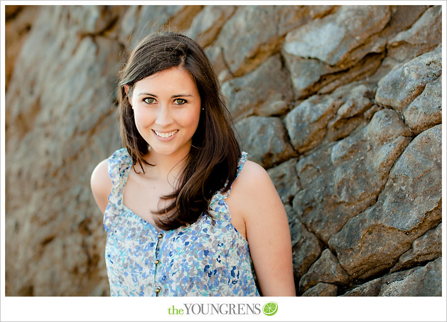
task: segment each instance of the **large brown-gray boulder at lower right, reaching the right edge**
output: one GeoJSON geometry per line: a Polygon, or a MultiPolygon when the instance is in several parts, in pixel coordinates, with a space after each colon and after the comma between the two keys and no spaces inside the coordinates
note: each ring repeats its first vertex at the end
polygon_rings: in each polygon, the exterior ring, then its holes
{"type": "Polygon", "coordinates": [[[411,141],[377,202],[349,219],[329,246],[349,275],[363,279],[390,269],[440,220],[441,126],[436,125],[411,141]]]}

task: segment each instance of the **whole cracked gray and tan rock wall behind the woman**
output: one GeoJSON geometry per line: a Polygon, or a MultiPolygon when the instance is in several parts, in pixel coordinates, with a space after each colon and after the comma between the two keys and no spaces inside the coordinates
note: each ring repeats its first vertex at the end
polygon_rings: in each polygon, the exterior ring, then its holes
{"type": "Polygon", "coordinates": [[[268,169],[297,295],[441,295],[441,6],[7,6],[7,295],[109,295],[89,178],[161,29],[205,48],[268,169]]]}

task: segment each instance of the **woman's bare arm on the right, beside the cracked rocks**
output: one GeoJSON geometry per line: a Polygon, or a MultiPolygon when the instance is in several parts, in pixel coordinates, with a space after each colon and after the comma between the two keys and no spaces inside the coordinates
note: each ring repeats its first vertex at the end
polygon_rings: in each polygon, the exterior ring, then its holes
{"type": "Polygon", "coordinates": [[[289,224],[269,175],[260,165],[247,161],[231,197],[245,221],[262,295],[296,296],[289,224]]]}

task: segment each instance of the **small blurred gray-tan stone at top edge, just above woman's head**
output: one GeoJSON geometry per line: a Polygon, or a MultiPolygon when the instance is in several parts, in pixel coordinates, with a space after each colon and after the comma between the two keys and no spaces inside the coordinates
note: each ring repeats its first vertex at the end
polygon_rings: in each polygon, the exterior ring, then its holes
{"type": "Polygon", "coordinates": [[[196,40],[202,48],[210,45],[236,6],[206,6],[193,20],[185,35],[196,40]]]}

